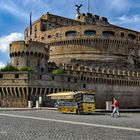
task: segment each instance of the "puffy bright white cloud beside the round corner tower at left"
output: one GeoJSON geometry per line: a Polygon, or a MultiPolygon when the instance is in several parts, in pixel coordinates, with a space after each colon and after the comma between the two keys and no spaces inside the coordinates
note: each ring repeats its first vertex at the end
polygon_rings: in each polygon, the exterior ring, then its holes
{"type": "Polygon", "coordinates": [[[12,41],[23,40],[23,34],[21,33],[11,33],[10,35],[0,37],[0,51],[2,53],[8,52],[9,44],[12,41]]]}

